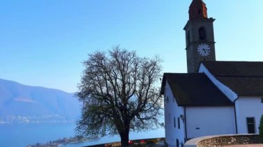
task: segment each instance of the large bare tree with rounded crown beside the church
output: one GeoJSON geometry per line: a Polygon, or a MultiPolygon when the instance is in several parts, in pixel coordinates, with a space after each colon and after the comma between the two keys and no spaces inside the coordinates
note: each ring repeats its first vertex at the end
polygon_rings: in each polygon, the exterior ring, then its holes
{"type": "Polygon", "coordinates": [[[122,146],[128,146],[131,130],[158,127],[160,62],[158,56],[141,58],[119,46],[90,54],[78,86],[83,106],[77,132],[87,137],[119,134],[122,146]]]}

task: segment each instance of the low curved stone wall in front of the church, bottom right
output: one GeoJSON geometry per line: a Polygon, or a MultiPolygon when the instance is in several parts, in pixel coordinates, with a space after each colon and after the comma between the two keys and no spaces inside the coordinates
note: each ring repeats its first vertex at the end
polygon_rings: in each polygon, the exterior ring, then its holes
{"type": "Polygon", "coordinates": [[[191,139],[185,147],[217,147],[238,144],[260,144],[259,135],[217,135],[191,139]]]}

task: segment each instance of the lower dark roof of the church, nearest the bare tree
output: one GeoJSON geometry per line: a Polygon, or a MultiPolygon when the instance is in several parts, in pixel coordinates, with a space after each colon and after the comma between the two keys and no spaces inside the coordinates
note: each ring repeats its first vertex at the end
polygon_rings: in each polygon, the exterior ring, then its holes
{"type": "Polygon", "coordinates": [[[233,102],[203,73],[165,73],[161,94],[166,81],[179,106],[233,106],[233,102]]]}

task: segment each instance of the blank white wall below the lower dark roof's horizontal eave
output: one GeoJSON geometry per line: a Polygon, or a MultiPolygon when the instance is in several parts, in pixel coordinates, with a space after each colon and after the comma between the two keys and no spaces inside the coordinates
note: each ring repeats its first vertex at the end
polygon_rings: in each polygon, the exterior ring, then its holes
{"type": "Polygon", "coordinates": [[[235,134],[234,107],[186,107],[185,115],[188,138],[235,134]]]}

